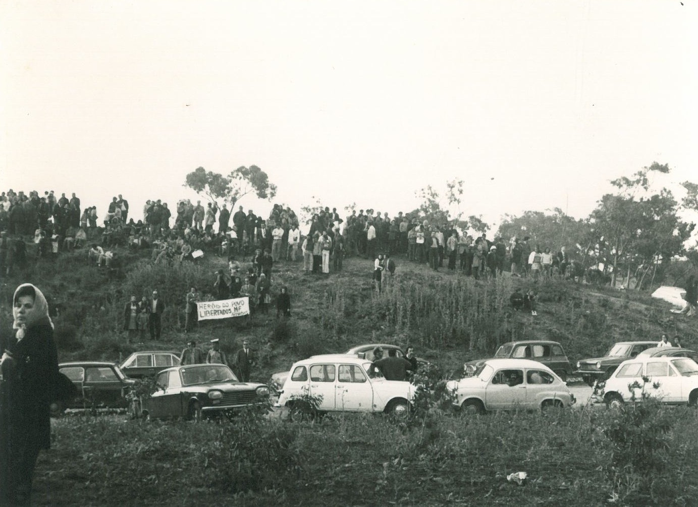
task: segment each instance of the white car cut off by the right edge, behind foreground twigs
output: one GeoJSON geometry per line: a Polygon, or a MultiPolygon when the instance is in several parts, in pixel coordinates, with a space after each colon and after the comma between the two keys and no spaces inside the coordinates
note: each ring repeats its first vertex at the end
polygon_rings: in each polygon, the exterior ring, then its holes
{"type": "Polygon", "coordinates": [[[634,400],[641,401],[643,389],[664,403],[696,404],[698,363],[688,357],[637,356],[628,359],[606,381],[604,402],[609,407],[618,407],[632,401],[633,395],[634,400]],[[642,377],[649,381],[645,384],[642,377]],[[630,386],[633,386],[632,392],[630,386]]]}

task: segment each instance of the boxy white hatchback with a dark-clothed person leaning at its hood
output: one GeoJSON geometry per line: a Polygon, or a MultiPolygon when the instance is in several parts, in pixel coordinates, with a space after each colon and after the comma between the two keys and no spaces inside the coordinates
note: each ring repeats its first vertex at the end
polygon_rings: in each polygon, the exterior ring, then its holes
{"type": "Polygon", "coordinates": [[[371,361],[343,354],[313,356],[291,366],[280,391],[280,407],[292,409],[303,395],[321,398],[325,411],[385,412],[405,416],[415,386],[407,381],[369,377],[371,361]]]}

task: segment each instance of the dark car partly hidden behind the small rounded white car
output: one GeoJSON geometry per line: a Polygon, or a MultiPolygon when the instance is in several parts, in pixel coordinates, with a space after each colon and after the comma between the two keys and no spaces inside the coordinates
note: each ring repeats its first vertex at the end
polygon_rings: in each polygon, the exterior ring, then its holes
{"type": "Polygon", "coordinates": [[[463,365],[466,376],[475,374],[485,361],[489,359],[531,359],[543,363],[548,368],[556,372],[560,379],[567,381],[567,377],[572,374],[572,365],[567,358],[562,345],[558,342],[548,340],[522,340],[519,342],[507,342],[500,345],[494,353],[493,358],[475,359],[463,365]]]}

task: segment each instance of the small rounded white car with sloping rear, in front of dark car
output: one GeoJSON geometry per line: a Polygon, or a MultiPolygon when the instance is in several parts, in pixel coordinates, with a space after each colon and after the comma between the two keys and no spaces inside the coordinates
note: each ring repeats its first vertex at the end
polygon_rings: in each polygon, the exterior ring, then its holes
{"type": "Polygon", "coordinates": [[[488,359],[473,377],[446,386],[455,395],[454,404],[468,414],[570,407],[577,401],[553,370],[530,359],[488,359]]]}

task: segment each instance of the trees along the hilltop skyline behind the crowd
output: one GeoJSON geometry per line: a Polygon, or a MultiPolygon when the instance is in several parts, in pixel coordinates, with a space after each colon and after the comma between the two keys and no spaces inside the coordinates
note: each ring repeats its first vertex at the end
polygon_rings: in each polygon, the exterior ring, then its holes
{"type": "MultiPolygon", "coordinates": [[[[543,248],[565,246],[583,266],[600,266],[609,273],[611,285],[622,277],[629,289],[654,285],[665,278],[671,259],[685,258],[685,269],[674,273],[676,282],[698,268],[698,251],[695,245],[688,246],[696,224],[682,218],[685,211],[698,211],[698,184],[681,183],[685,196],[677,199],[669,188],[655,185],[654,176],[670,172],[668,164],[653,162],[630,177],[612,180],[614,192],[603,195],[586,218],[574,218],[559,208],[505,214],[495,236],[505,240],[529,236],[533,246],[543,248]],[[634,280],[632,287],[630,280],[634,280]]],[[[487,233],[490,227],[482,215],[466,216],[461,211],[464,184],[461,179],[447,181],[443,197],[432,186],[418,190],[415,195],[422,204],[408,215],[448,224],[464,234],[487,233]]],[[[231,208],[248,194],[271,201],[277,190],[256,165],[238,167],[228,176],[198,167],[186,175],[184,186],[210,200],[230,202],[231,208]]],[[[320,199],[313,199],[313,204],[301,209],[307,220],[324,208],[320,199]]],[[[345,210],[351,213],[356,207],[353,203],[345,210]]]]}

